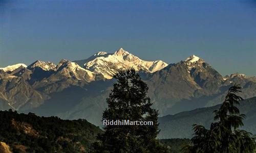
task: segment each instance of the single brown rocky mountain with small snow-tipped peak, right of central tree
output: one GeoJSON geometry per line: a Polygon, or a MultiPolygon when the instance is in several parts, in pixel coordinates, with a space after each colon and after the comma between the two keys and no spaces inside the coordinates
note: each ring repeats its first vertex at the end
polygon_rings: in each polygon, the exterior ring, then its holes
{"type": "MultiPolygon", "coordinates": [[[[155,105],[162,108],[160,114],[165,115],[176,103],[179,104],[179,101],[188,101],[202,95],[218,93],[221,80],[220,73],[203,59],[193,55],[184,61],[170,64],[164,69],[152,73],[146,83],[150,87],[148,93],[153,97],[155,105]]],[[[186,107],[188,105],[179,106],[176,110],[184,111],[186,107]]]]}

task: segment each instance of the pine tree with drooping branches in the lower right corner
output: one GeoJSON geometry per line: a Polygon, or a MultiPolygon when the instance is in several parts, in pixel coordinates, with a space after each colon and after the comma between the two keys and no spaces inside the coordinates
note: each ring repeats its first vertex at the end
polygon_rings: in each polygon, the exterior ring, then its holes
{"type": "Polygon", "coordinates": [[[256,147],[256,137],[238,129],[243,126],[245,118],[236,107],[242,100],[242,97],[237,95],[239,92],[241,92],[239,85],[229,88],[220,109],[214,111],[214,119],[217,122],[211,123],[209,130],[202,125],[193,125],[195,136],[191,140],[194,145],[184,147],[184,152],[253,152],[256,147]]]}

